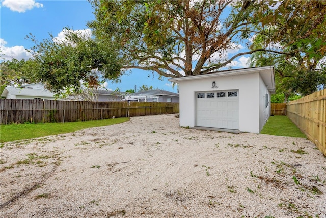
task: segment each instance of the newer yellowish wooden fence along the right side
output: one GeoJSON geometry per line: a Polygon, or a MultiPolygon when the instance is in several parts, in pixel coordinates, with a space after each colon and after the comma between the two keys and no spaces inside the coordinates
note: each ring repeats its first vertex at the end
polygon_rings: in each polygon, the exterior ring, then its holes
{"type": "Polygon", "coordinates": [[[287,103],[287,116],[326,155],[326,89],[287,103]]]}

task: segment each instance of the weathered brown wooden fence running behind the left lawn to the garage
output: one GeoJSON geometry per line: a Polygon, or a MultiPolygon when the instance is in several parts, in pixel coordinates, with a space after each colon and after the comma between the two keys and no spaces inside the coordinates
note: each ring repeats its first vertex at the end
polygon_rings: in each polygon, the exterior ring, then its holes
{"type": "Polygon", "coordinates": [[[179,103],[1,99],[0,124],[71,122],[179,113],[179,103]]]}

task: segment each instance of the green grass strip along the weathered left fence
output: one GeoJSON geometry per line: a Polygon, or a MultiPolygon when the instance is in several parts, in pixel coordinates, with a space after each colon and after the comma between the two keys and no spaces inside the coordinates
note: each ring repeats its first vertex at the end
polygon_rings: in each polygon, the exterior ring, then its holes
{"type": "Polygon", "coordinates": [[[108,126],[128,121],[129,118],[102,119],[66,123],[8,124],[0,125],[0,142],[44,137],[74,132],[90,127],[108,126]]]}

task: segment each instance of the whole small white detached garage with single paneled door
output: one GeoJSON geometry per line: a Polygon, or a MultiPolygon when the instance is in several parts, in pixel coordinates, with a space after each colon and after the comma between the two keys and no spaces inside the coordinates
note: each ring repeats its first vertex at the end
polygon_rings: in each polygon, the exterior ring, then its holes
{"type": "Polygon", "coordinates": [[[274,66],[169,79],[179,83],[180,126],[259,133],[270,116],[274,66]]]}

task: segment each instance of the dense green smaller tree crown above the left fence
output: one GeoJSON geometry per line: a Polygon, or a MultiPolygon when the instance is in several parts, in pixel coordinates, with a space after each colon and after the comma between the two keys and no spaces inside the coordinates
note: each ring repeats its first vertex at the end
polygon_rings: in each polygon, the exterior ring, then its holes
{"type": "Polygon", "coordinates": [[[30,51],[39,66],[37,78],[52,91],[60,92],[68,86],[79,90],[81,81],[92,87],[99,84],[99,76],[120,76],[121,66],[110,42],[94,40],[70,29],[66,29],[66,38],[61,41],[52,35],[41,42],[33,35],[28,38],[35,42],[30,51]]]}

